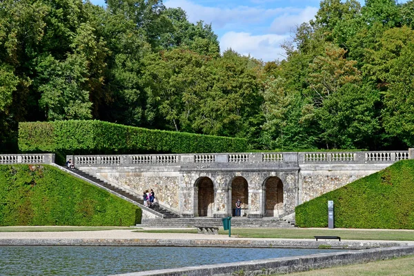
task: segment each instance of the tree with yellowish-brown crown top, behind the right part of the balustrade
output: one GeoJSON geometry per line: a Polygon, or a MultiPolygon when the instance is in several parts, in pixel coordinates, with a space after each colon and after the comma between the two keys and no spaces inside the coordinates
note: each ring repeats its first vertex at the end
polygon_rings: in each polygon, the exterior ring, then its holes
{"type": "Polygon", "coordinates": [[[302,120],[316,120],[320,126],[320,141],[326,148],[369,146],[368,140],[379,129],[375,104],[376,90],[362,85],[362,75],[356,61],[344,58],[346,50],[333,45],[324,55],[309,65],[310,104],[304,106],[302,120]]]}

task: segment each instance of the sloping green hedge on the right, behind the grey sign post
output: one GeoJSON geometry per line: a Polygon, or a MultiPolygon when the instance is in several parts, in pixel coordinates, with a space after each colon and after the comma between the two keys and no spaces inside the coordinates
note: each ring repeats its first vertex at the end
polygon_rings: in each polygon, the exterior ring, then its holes
{"type": "Polygon", "coordinates": [[[399,161],[296,207],[299,227],[327,227],[333,200],[335,227],[414,229],[414,160],[399,161]]]}

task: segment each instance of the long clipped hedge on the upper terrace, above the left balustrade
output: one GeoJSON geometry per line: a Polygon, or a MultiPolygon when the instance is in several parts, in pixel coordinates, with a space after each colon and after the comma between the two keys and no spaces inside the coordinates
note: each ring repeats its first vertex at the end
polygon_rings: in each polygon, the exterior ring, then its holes
{"type": "Polygon", "coordinates": [[[116,154],[244,152],[246,149],[246,139],[149,130],[97,120],[19,124],[21,152],[116,154]]]}

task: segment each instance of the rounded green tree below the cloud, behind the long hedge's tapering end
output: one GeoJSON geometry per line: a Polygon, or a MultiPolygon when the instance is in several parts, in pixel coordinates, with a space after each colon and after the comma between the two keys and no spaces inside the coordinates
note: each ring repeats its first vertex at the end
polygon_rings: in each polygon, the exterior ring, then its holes
{"type": "MultiPolygon", "coordinates": [[[[257,81],[262,63],[242,57],[233,50],[208,64],[210,78],[196,119],[195,130],[210,135],[246,137],[262,123],[260,106],[263,98],[257,81]]],[[[250,138],[250,137],[248,137],[250,138]]]]}

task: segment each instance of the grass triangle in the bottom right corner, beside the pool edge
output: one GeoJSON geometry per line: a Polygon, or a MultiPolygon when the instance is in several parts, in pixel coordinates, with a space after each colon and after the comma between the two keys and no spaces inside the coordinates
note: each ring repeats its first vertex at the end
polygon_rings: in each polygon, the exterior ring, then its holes
{"type": "MultiPolygon", "coordinates": [[[[301,273],[290,273],[293,276],[380,276],[380,275],[414,275],[414,256],[388,259],[386,261],[353,264],[310,270],[301,273]]],[[[274,275],[275,276],[275,275],[274,275]]]]}

